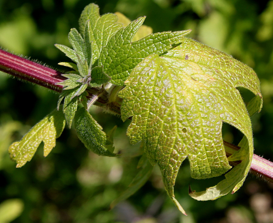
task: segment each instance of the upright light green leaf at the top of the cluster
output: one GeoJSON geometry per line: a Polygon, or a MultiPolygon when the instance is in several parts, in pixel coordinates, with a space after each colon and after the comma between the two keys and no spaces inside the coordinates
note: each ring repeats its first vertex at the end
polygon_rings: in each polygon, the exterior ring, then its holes
{"type": "Polygon", "coordinates": [[[99,7],[93,3],[87,5],[79,19],[80,32],[86,36],[86,22],[89,20],[89,41],[92,42],[92,58],[95,62],[99,58],[103,46],[116,33],[122,24],[117,23],[115,14],[99,15],[99,7]]]}

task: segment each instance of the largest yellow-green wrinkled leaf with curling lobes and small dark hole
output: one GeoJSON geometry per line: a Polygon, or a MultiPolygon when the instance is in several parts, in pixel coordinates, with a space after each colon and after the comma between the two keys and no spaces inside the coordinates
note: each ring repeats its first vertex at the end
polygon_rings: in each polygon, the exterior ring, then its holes
{"type": "MultiPolygon", "coordinates": [[[[250,168],[253,143],[250,118],[236,87],[251,90],[260,102],[261,93],[257,75],[248,66],[194,40],[180,41],[164,57],[154,54],[139,63],[120,97],[124,99],[122,119],[132,117],[127,130],[131,143],[145,142],[145,153],[152,164],[158,163],[168,195],[185,214],[174,197],[183,160],[189,159],[191,176],[197,179],[219,176],[231,168],[222,122],[245,135],[247,143],[240,144],[237,156],[242,162],[226,174],[221,187],[214,187],[217,192],[201,192],[206,193],[201,199],[216,199],[241,187],[250,168]]],[[[202,195],[191,196],[199,199],[202,195]]]]}

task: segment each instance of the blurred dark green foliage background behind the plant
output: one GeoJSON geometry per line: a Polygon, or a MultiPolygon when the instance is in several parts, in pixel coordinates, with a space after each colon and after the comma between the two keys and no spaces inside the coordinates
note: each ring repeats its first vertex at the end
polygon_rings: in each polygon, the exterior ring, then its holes
{"type": "MultiPolygon", "coordinates": [[[[86,0],[0,0],[0,46],[54,68],[67,61],[55,43],[69,45],[70,28],[86,0]]],[[[154,32],[192,29],[189,37],[233,55],[251,66],[261,80],[264,107],[252,118],[255,153],[273,158],[273,0],[98,0],[101,14],[122,12],[131,20],[146,15],[154,32]]],[[[249,93],[241,90],[244,99],[249,93]]],[[[48,157],[38,149],[20,169],[9,159],[8,146],[52,111],[58,95],[41,86],[0,72],[0,223],[272,223],[273,184],[249,175],[235,194],[216,201],[195,201],[194,190],[213,186],[219,178],[192,180],[185,161],[175,194],[187,211],[183,216],[167,197],[159,169],[136,194],[109,211],[113,199],[136,175],[139,145],[125,136],[128,122],[94,108],[92,115],[106,130],[117,125],[115,147],[120,158],[89,153],[74,130],[65,129],[48,157]]],[[[224,126],[223,137],[238,142],[238,131],[224,126]]]]}

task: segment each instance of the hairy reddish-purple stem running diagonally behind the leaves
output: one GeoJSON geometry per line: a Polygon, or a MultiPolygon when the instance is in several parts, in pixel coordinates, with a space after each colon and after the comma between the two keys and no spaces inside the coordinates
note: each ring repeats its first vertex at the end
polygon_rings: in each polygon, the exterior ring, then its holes
{"type": "MultiPolygon", "coordinates": [[[[2,49],[0,49],[0,70],[57,92],[62,91],[62,86],[58,85],[57,83],[66,79],[65,77],[61,76],[62,73],[54,69],[48,68],[20,56],[16,56],[2,49]]],[[[89,99],[96,97],[97,100],[94,103],[95,105],[104,107],[107,110],[120,115],[121,99],[109,103],[108,93],[106,91],[100,93],[99,98],[97,98],[98,90],[95,88],[89,89],[88,93],[89,99]]],[[[226,149],[227,156],[230,156],[235,151],[240,149],[240,147],[225,141],[224,147],[226,149]]],[[[238,163],[239,162],[231,162],[231,164],[234,166],[238,163]]],[[[273,163],[257,156],[256,154],[253,156],[250,172],[259,178],[273,182],[273,163]]]]}

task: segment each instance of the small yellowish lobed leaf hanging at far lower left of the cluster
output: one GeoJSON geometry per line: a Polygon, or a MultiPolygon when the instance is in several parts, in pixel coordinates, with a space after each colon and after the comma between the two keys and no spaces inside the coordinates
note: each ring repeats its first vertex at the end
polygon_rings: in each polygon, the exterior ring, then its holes
{"type": "Polygon", "coordinates": [[[8,149],[11,159],[17,163],[16,167],[22,167],[30,161],[42,141],[46,157],[55,147],[56,138],[61,135],[64,127],[64,115],[57,110],[38,122],[19,142],[14,142],[8,149]]]}

